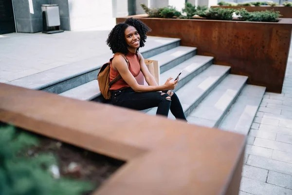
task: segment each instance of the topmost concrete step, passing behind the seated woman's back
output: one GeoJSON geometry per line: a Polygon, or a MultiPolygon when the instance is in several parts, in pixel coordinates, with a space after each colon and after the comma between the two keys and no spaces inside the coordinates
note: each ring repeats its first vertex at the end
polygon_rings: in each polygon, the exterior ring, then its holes
{"type": "MultiPolygon", "coordinates": [[[[146,46],[140,48],[140,52],[144,58],[148,59],[151,56],[163,53],[179,45],[180,39],[148,37],[146,46]]],[[[82,59],[28,77],[19,78],[7,84],[61,94],[96,78],[99,68],[108,62],[112,55],[109,49],[109,52],[104,55],[97,54],[95,57],[82,59]]]]}

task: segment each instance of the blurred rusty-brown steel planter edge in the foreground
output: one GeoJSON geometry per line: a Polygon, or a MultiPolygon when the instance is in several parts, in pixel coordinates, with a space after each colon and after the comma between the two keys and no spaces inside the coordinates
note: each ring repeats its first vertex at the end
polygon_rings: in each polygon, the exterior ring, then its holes
{"type": "Polygon", "coordinates": [[[0,121],[127,161],[94,195],[238,195],[246,137],[0,83],[0,121]]]}

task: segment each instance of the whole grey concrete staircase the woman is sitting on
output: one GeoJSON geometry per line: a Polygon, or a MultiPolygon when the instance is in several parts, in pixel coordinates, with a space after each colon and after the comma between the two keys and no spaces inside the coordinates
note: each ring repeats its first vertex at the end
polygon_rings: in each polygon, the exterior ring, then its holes
{"type": "MultiPolygon", "coordinates": [[[[160,84],[184,69],[174,91],[189,123],[247,135],[265,87],[246,84],[247,77],[230,74],[230,67],[213,64],[213,57],[199,56],[196,51],[194,47],[180,46],[180,39],[154,37],[147,39],[146,47],[140,49],[145,59],[159,61],[160,84]]],[[[36,88],[64,97],[100,101],[98,81],[93,79],[111,56],[109,53],[102,59],[83,60],[82,67],[76,62],[67,75],[36,88]]],[[[155,115],[156,110],[143,112],[155,115]]],[[[168,117],[175,119],[171,113],[168,117]]]]}

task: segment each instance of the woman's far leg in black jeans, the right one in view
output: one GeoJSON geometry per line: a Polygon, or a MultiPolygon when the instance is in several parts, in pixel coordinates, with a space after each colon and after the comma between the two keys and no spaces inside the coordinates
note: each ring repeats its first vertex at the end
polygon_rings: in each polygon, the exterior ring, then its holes
{"type": "Polygon", "coordinates": [[[183,107],[178,96],[171,90],[163,91],[163,93],[168,94],[171,98],[170,111],[173,114],[173,116],[179,119],[186,120],[183,113],[183,107]]]}

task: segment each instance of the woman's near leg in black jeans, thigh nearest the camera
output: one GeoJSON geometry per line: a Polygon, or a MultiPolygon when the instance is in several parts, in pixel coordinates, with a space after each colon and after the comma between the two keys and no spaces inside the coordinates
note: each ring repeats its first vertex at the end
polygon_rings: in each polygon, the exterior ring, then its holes
{"type": "Polygon", "coordinates": [[[113,105],[122,106],[134,110],[145,110],[158,107],[157,115],[168,116],[171,98],[168,94],[159,92],[136,93],[134,91],[117,91],[112,94],[113,105]]]}

